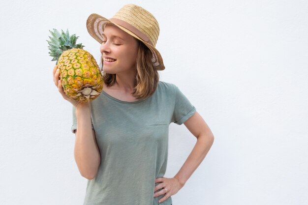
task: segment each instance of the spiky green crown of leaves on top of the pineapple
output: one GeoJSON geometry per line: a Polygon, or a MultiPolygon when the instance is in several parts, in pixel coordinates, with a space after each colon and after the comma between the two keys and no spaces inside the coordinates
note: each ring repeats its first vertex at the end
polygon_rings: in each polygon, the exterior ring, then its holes
{"type": "Polygon", "coordinates": [[[58,63],[58,59],[63,53],[63,51],[72,49],[72,48],[83,48],[81,43],[76,44],[76,40],[79,36],[76,36],[76,34],[69,35],[68,29],[66,29],[66,32],[61,30],[60,33],[57,29],[54,29],[54,31],[50,31],[51,36],[48,36],[50,40],[48,42],[49,46],[48,49],[50,50],[49,54],[51,57],[54,57],[52,61],[57,60],[56,64],[58,63]]]}

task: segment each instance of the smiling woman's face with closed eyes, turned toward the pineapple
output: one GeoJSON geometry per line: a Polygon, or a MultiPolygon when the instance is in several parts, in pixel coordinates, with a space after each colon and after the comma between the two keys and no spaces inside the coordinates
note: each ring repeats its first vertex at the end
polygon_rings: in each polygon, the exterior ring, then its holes
{"type": "Polygon", "coordinates": [[[117,74],[135,72],[138,42],[133,36],[113,25],[107,25],[103,31],[100,53],[103,57],[103,71],[117,74]],[[112,59],[110,61],[110,59],[112,59]]]}

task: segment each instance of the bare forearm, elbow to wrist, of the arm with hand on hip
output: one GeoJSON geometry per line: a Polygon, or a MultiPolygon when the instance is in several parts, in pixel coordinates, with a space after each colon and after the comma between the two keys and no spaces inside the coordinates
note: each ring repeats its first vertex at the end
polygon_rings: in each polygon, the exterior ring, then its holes
{"type": "Polygon", "coordinates": [[[180,171],[174,176],[184,186],[188,178],[201,164],[214,142],[213,135],[200,135],[180,171]]]}

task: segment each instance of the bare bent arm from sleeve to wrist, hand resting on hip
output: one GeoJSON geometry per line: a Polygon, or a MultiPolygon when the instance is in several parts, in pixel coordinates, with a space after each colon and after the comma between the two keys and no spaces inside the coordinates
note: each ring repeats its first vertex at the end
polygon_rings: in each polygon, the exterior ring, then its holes
{"type": "Polygon", "coordinates": [[[180,171],[174,176],[182,186],[184,186],[188,178],[201,164],[214,142],[214,135],[210,127],[199,113],[196,112],[184,124],[191,134],[197,138],[197,142],[180,171]]]}

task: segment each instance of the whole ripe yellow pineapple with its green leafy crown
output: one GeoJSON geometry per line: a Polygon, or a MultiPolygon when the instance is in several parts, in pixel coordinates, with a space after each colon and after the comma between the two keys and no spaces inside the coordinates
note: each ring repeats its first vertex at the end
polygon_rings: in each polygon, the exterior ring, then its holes
{"type": "MultiPolygon", "coordinates": [[[[50,30],[49,30],[50,31],[50,30]]],[[[83,50],[81,43],[75,44],[78,36],[50,31],[47,40],[50,56],[57,60],[60,78],[65,94],[78,102],[89,102],[98,97],[103,89],[102,75],[93,56],[83,50]]]]}

